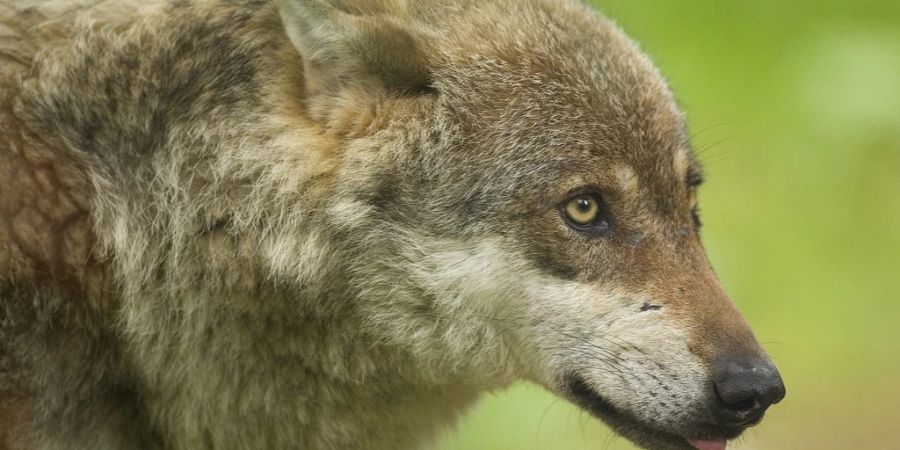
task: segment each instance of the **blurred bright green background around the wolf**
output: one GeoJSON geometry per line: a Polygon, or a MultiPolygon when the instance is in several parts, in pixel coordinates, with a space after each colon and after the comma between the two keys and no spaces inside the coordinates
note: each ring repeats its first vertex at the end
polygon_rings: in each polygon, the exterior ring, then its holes
{"type": "MultiPolygon", "coordinates": [[[[687,112],[710,258],[787,384],[730,448],[900,449],[900,1],[593,3],[687,112]]],[[[634,447],[520,385],[438,448],[634,447]]]]}

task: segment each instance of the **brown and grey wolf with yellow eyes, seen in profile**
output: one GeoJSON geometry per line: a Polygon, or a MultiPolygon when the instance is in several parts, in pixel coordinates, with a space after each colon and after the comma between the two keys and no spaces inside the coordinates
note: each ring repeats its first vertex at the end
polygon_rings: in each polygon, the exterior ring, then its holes
{"type": "Polygon", "coordinates": [[[785,394],[683,114],[582,2],[11,0],[0,30],[0,448],[423,448],[525,380],[715,450],[785,394]]]}

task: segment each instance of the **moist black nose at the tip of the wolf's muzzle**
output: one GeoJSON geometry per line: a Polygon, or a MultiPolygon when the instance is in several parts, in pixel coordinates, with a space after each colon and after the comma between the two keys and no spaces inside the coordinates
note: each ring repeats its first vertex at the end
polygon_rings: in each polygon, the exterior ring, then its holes
{"type": "Polygon", "coordinates": [[[778,369],[765,359],[720,361],[713,382],[720,400],[716,413],[723,425],[753,425],[785,394],[778,369]]]}

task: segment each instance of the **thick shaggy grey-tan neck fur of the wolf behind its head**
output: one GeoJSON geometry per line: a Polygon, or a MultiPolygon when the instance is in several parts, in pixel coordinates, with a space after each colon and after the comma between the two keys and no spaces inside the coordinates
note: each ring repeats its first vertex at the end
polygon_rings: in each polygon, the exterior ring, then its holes
{"type": "Polygon", "coordinates": [[[321,213],[335,143],[279,104],[297,82],[286,39],[243,29],[274,11],[173,8],[174,23],[87,32],[22,92],[27,120],[83,159],[104,199],[91,208],[117,334],[159,434],[185,449],[421,444],[485,386],[436,365],[440,348],[422,358],[373,328],[360,305],[388,291],[347,288],[354,249],[321,213]]]}

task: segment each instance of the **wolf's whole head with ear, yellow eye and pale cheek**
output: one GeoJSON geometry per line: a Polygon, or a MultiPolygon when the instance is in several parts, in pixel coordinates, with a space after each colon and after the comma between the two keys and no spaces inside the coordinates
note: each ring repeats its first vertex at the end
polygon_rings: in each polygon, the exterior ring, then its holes
{"type": "Polygon", "coordinates": [[[700,240],[651,62],[571,0],[281,0],[367,329],[434,383],[538,383],[653,448],[723,448],[784,386],[700,240]]]}

